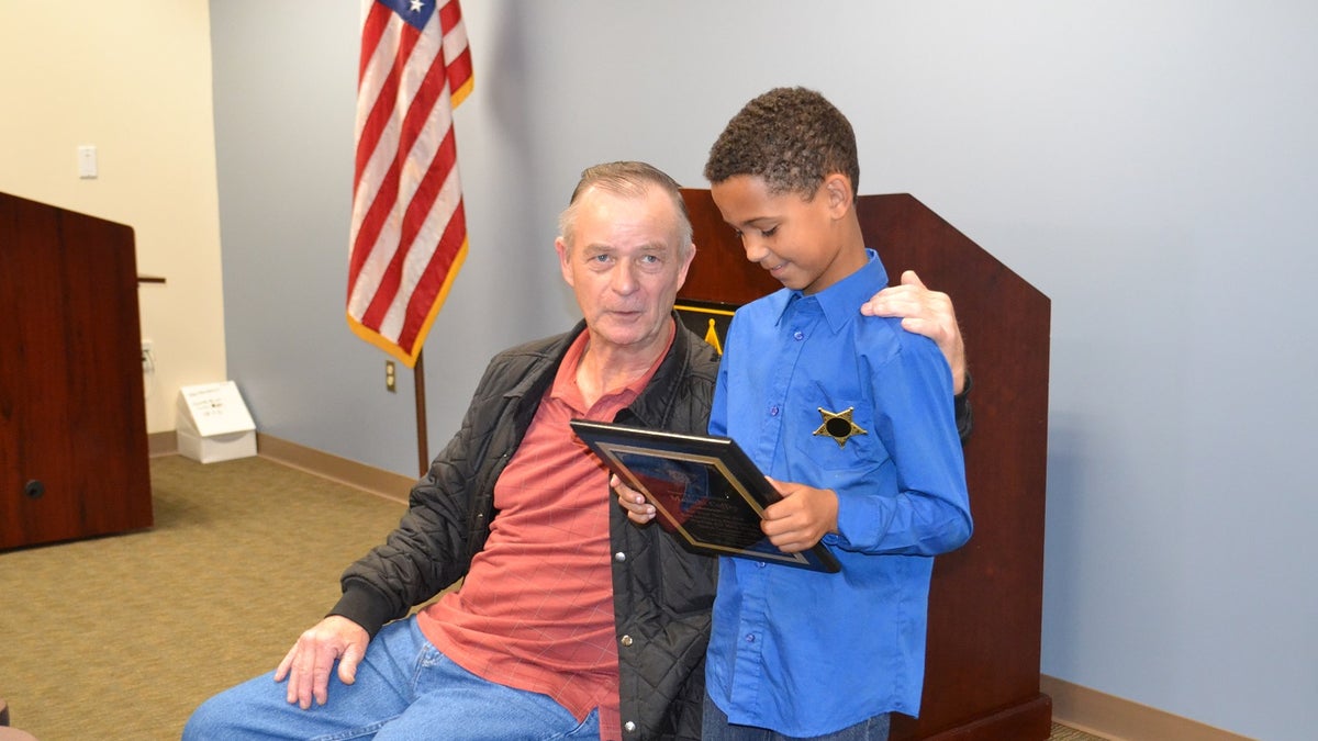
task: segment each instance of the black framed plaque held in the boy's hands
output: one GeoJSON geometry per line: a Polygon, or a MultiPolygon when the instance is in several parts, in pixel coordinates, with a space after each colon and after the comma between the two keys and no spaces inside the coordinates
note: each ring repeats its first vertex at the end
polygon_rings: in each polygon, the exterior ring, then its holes
{"type": "Polygon", "coordinates": [[[813,571],[841,567],[824,543],[786,554],[759,529],[782,496],[730,438],[573,419],[579,438],[658,510],[655,522],[687,547],[813,571]]]}

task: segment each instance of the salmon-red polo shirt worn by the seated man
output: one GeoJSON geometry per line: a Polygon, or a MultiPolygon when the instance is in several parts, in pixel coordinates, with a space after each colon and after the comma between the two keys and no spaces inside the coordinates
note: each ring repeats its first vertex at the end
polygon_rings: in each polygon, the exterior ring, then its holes
{"type": "MultiPolygon", "coordinates": [[[[585,409],[576,373],[588,344],[568,349],[531,427],[494,485],[498,516],[463,587],[416,616],[445,657],[489,682],[554,697],[576,719],[600,708],[600,737],[621,738],[613,616],[609,472],[568,422],[612,422],[650,382],[585,409]]],[[[671,343],[671,340],[670,340],[671,343]]]]}

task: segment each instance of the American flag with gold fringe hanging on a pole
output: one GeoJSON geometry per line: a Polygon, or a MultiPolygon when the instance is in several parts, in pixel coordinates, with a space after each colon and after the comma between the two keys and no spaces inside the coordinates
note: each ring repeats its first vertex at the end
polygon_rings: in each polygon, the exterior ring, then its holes
{"type": "Polygon", "coordinates": [[[467,257],[453,108],[472,88],[457,0],[364,0],[348,326],[409,368],[467,257]]]}

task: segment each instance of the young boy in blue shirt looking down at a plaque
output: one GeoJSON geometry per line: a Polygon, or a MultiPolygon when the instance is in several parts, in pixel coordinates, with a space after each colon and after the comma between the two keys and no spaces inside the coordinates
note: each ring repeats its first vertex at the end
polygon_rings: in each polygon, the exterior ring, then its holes
{"type": "MultiPolygon", "coordinates": [[[[952,372],[928,338],[854,310],[887,274],[855,215],[855,136],[821,95],[747,103],[705,177],[784,286],[733,316],[709,432],[783,494],[768,539],[822,541],[842,568],[720,559],[702,738],[887,738],[888,713],[920,711],[933,556],[971,533],[952,372]]],[[[646,519],[635,496],[619,489],[646,519]]]]}

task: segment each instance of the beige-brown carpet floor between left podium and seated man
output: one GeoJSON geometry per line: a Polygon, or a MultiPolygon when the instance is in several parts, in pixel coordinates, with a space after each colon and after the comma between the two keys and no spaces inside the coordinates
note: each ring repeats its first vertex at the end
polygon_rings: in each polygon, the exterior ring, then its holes
{"type": "Polygon", "coordinates": [[[152,487],[149,531],[0,552],[0,697],[41,741],[178,738],[278,663],[405,506],[260,458],[157,458],[152,487]]]}

